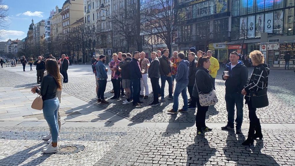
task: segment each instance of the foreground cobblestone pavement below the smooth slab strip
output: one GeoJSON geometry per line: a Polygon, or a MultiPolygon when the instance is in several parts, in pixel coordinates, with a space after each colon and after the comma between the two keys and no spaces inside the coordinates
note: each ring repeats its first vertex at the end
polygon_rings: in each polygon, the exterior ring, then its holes
{"type": "Polygon", "coordinates": [[[47,128],[0,128],[0,165],[294,165],[294,130],[263,130],[264,139],[242,147],[243,134],[193,128],[63,128],[62,144],[85,148],[71,155],[44,154],[47,128]]]}

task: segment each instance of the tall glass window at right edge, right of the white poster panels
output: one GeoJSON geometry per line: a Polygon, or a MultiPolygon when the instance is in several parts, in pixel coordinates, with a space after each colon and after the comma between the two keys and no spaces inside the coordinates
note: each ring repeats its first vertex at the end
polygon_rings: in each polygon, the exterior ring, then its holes
{"type": "Polygon", "coordinates": [[[293,35],[294,32],[294,8],[285,9],[284,35],[293,35]]]}

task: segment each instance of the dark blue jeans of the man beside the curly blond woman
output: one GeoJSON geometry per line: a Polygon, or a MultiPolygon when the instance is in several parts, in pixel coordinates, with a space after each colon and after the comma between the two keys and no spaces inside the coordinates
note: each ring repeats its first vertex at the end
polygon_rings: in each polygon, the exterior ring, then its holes
{"type": "Polygon", "coordinates": [[[234,126],[235,106],[236,106],[236,128],[241,128],[243,123],[243,100],[244,95],[241,93],[225,93],[225,103],[227,109],[227,125],[234,126]]]}

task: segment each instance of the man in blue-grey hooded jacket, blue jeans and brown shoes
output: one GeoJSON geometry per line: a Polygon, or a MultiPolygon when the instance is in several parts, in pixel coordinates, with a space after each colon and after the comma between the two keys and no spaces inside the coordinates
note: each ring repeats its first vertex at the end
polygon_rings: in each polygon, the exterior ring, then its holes
{"type": "Polygon", "coordinates": [[[177,114],[178,110],[178,96],[181,93],[184,106],[179,109],[179,112],[187,112],[188,109],[188,99],[186,94],[187,86],[189,85],[189,61],[184,60],[184,54],[182,52],[177,54],[177,59],[179,62],[177,73],[176,73],[176,86],[174,90],[174,101],[173,109],[168,110],[169,113],[177,114]]]}

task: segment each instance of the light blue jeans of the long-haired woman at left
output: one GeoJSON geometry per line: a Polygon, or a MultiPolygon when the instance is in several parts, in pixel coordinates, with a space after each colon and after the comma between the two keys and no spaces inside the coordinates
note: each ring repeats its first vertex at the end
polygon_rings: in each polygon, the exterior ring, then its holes
{"type": "Polygon", "coordinates": [[[57,122],[57,112],[59,110],[59,99],[53,98],[43,101],[43,114],[47,123],[49,124],[52,142],[57,142],[57,137],[59,135],[59,126],[57,122]]]}

